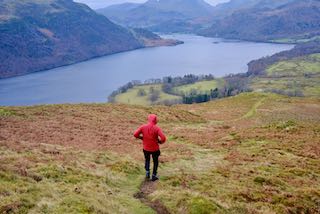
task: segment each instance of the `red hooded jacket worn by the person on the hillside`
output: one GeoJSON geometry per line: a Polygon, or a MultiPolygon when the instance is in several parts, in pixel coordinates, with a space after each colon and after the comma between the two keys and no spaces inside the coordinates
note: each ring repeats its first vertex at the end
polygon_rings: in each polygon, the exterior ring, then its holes
{"type": "Polygon", "coordinates": [[[148,116],[148,124],[140,126],[135,132],[134,137],[141,138],[143,141],[143,149],[148,152],[158,151],[159,148],[159,138],[160,142],[166,142],[166,136],[162,133],[162,130],[156,125],[157,116],[155,114],[150,114],[148,116]],[[141,136],[142,135],[142,136],[141,136]]]}

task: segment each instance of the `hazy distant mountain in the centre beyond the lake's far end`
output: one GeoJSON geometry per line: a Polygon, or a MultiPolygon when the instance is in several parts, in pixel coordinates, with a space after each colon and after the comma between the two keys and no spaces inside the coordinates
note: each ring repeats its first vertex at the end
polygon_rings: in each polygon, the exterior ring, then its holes
{"type": "Polygon", "coordinates": [[[175,28],[179,27],[185,30],[179,25],[189,26],[189,20],[210,16],[212,8],[203,0],[149,0],[143,4],[114,5],[97,12],[126,26],[177,31],[175,28]]]}

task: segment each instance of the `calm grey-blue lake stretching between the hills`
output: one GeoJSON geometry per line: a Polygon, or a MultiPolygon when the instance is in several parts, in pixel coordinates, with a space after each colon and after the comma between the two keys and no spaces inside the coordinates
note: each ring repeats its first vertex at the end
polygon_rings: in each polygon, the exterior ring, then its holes
{"type": "Polygon", "coordinates": [[[0,105],[106,102],[113,90],[131,80],[246,72],[249,61],[293,47],[193,35],[166,37],[185,44],[140,49],[0,80],[0,105]]]}

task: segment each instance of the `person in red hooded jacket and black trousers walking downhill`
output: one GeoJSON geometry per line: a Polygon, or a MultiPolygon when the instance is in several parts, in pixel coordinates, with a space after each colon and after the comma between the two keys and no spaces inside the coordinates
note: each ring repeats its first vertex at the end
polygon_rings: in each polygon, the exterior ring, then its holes
{"type": "Polygon", "coordinates": [[[162,133],[162,130],[156,125],[157,122],[157,115],[150,114],[148,116],[148,124],[140,126],[134,132],[134,137],[143,141],[143,153],[145,158],[145,169],[147,179],[150,179],[150,155],[152,156],[152,181],[156,181],[159,179],[157,177],[160,156],[159,144],[163,144],[166,142],[166,136],[162,133]]]}

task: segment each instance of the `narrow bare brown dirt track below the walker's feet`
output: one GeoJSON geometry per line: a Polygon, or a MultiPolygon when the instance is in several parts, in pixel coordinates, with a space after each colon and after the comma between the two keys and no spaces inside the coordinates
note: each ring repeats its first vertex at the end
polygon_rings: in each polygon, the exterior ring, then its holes
{"type": "Polygon", "coordinates": [[[152,182],[145,180],[141,184],[140,191],[134,195],[135,198],[138,198],[143,204],[151,207],[158,214],[169,214],[168,209],[161,203],[159,200],[151,201],[148,196],[152,194],[157,188],[158,182],[152,182]]]}

